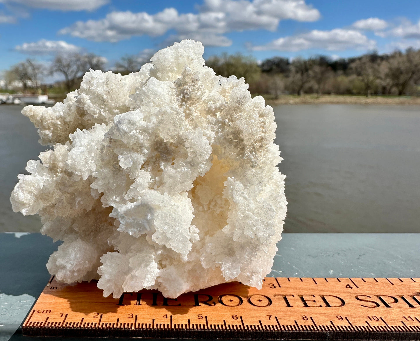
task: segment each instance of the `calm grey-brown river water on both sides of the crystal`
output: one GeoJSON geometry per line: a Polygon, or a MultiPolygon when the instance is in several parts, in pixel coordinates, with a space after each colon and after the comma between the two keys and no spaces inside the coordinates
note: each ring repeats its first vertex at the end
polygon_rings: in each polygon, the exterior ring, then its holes
{"type": "MultiPolygon", "coordinates": [[[[0,232],[37,232],[10,193],[37,159],[37,129],[22,107],[0,106],[0,232]]],[[[289,202],[285,232],[420,232],[420,107],[274,108],[289,202]]]]}

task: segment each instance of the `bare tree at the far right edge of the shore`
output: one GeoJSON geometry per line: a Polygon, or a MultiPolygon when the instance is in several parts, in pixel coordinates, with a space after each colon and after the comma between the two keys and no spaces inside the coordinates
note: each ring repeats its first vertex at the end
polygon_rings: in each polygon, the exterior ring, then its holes
{"type": "Polygon", "coordinates": [[[405,54],[396,51],[389,57],[386,65],[388,67],[386,78],[391,82],[391,86],[396,88],[398,95],[401,96],[420,73],[419,52],[413,49],[407,49],[405,54]]]}

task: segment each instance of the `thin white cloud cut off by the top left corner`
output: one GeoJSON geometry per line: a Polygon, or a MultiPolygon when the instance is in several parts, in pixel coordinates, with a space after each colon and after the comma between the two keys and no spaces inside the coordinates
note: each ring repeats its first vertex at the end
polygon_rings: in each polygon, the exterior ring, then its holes
{"type": "Polygon", "coordinates": [[[24,5],[49,10],[96,10],[109,0],[0,0],[0,3],[24,5]]]}

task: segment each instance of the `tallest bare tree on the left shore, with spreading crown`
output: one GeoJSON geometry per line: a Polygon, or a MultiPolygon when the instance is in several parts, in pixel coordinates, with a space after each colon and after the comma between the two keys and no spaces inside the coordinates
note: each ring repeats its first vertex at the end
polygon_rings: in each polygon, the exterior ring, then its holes
{"type": "Polygon", "coordinates": [[[83,56],[78,53],[71,55],[57,55],[51,68],[52,73],[61,73],[68,92],[74,89],[76,78],[86,70],[83,56]]]}

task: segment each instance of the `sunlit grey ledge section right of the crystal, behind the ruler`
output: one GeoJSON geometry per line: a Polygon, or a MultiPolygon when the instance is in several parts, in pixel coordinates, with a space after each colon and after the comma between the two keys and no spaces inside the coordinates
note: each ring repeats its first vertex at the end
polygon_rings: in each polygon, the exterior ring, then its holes
{"type": "Polygon", "coordinates": [[[420,233],[285,233],[273,277],[420,277],[420,233]]]}

